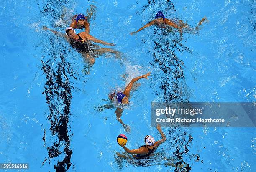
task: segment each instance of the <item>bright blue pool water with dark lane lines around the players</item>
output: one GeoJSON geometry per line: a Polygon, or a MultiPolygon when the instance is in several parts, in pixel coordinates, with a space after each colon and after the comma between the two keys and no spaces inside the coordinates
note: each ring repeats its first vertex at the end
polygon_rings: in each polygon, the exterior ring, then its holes
{"type": "MultiPolygon", "coordinates": [[[[243,1],[36,0],[0,4],[0,163],[29,163],[20,171],[235,171],[256,168],[255,128],[164,128],[167,140],[149,166],[116,160],[118,134],[136,149],[151,127],[151,102],[255,102],[256,3],[243,1]],[[125,60],[100,56],[90,73],[64,38],[66,20],[95,5],[90,34],[115,43],[125,60]],[[196,34],[146,28],[157,11],[191,26],[206,16],[196,34]],[[138,81],[122,120],[108,94],[138,81]],[[122,75],[126,74],[125,81],[122,75]],[[134,94],[133,94],[134,93],[134,94]],[[189,167],[166,166],[164,157],[189,167]]],[[[83,30],[79,30],[83,31],[83,30]]],[[[15,170],[13,170],[15,171],[15,170]]]]}

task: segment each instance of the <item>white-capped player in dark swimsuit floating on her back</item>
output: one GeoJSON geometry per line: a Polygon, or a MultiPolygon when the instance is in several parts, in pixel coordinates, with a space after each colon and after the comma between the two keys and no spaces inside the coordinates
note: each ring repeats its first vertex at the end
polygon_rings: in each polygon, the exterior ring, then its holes
{"type": "Polygon", "coordinates": [[[89,45],[90,45],[89,41],[92,41],[95,43],[101,43],[106,46],[115,46],[115,44],[107,43],[103,40],[98,40],[97,38],[94,38],[92,35],[87,34],[86,32],[81,32],[81,33],[76,34],[76,32],[73,28],[68,27],[65,32],[66,35],[64,35],[55,30],[51,30],[45,26],[43,27],[43,29],[49,30],[56,35],[63,36],[65,38],[67,38],[67,41],[71,44],[71,46],[73,48],[77,49],[77,51],[82,54],[82,56],[85,58],[85,60],[90,65],[93,65],[95,63],[95,57],[100,56],[104,53],[108,53],[108,52],[114,53],[117,58],[120,58],[120,52],[112,50],[110,48],[98,48],[97,46],[95,46],[98,49],[91,49],[89,47],[89,45]]]}

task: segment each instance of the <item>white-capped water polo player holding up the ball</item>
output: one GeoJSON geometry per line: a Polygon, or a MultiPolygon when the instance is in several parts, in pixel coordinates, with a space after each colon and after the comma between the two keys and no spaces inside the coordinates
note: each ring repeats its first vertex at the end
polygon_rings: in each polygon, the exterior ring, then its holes
{"type": "Polygon", "coordinates": [[[132,154],[132,157],[129,155],[125,155],[125,154],[120,154],[117,153],[118,157],[124,158],[124,159],[147,159],[151,156],[151,154],[153,155],[153,153],[156,151],[156,149],[166,141],[166,136],[164,134],[164,132],[161,129],[161,126],[159,124],[157,124],[156,129],[159,131],[159,133],[161,134],[162,139],[158,140],[155,142],[154,137],[147,135],[144,138],[144,143],[145,145],[139,147],[138,149],[128,149],[126,146],[123,146],[123,149],[125,150],[125,152],[127,152],[128,154],[132,154]]]}

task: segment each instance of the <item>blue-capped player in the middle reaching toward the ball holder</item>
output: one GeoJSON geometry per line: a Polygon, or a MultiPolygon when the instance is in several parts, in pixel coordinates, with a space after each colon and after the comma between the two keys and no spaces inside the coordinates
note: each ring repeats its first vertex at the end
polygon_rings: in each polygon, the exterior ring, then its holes
{"type": "MultiPolygon", "coordinates": [[[[150,76],[150,73],[151,72],[148,72],[145,75],[141,75],[141,76],[138,76],[137,78],[133,78],[131,80],[131,82],[125,87],[123,92],[117,92],[117,93],[114,92],[114,93],[109,94],[108,96],[109,96],[110,100],[111,101],[118,101],[118,103],[121,103],[121,104],[128,104],[129,103],[130,92],[131,92],[131,89],[133,87],[133,84],[141,78],[148,79],[148,76],[150,76]]],[[[125,130],[127,132],[129,132],[130,127],[128,125],[124,124],[122,119],[121,119],[122,113],[123,113],[123,109],[118,107],[115,110],[116,119],[123,125],[125,130]]]]}

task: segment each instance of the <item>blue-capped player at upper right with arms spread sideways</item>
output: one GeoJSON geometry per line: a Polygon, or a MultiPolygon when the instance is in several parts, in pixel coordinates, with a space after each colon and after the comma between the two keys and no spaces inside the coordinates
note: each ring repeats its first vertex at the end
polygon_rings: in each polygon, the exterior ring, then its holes
{"type": "MultiPolygon", "coordinates": [[[[199,30],[200,25],[202,25],[202,23],[204,23],[205,21],[207,21],[207,18],[206,17],[202,18],[199,21],[197,27],[195,27],[195,30],[199,30]]],[[[171,26],[173,28],[176,28],[176,29],[178,29],[178,31],[181,35],[181,38],[182,38],[182,29],[183,28],[189,28],[189,26],[186,23],[184,23],[182,20],[179,20],[178,22],[174,22],[174,20],[165,18],[164,14],[161,11],[159,11],[159,12],[156,13],[156,16],[155,16],[154,20],[152,20],[148,24],[144,25],[143,27],[139,28],[137,31],[132,32],[130,34],[133,35],[134,33],[137,33],[137,32],[139,32],[139,31],[141,31],[141,30],[143,30],[143,29],[145,29],[145,28],[147,28],[151,25],[156,25],[156,26],[159,26],[161,28],[166,28],[166,26],[171,26]]]]}

